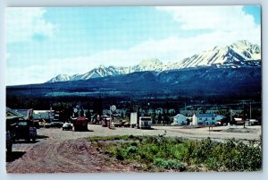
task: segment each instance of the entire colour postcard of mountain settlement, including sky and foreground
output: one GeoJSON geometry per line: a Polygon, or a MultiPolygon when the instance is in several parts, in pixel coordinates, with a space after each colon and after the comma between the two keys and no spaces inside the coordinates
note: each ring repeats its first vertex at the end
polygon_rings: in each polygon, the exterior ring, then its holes
{"type": "Polygon", "coordinates": [[[262,171],[259,5],[8,7],[6,172],[262,171]]]}

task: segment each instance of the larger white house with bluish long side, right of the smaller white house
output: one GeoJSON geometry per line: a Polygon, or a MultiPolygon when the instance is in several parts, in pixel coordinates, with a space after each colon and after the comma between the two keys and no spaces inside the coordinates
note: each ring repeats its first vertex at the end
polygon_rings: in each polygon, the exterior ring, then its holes
{"type": "Polygon", "coordinates": [[[217,121],[220,121],[223,118],[224,116],[215,114],[194,114],[192,119],[192,125],[217,124],[217,121]]]}

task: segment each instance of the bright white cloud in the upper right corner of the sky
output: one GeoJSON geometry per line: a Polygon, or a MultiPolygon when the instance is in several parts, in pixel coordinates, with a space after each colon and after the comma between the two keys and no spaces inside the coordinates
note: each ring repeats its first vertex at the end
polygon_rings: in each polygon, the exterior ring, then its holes
{"type": "MultiPolygon", "coordinates": [[[[261,27],[243,6],[162,6],[157,10],[171,13],[182,30],[213,30],[226,36],[222,40],[248,39],[261,44],[261,27]]],[[[222,44],[222,43],[220,43],[222,44]]]]}

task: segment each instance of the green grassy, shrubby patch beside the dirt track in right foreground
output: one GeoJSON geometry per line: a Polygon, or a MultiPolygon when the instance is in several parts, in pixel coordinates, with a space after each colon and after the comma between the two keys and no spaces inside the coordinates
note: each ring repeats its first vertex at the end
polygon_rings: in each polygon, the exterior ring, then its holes
{"type": "Polygon", "coordinates": [[[158,136],[95,136],[96,149],[145,171],[260,171],[261,141],[224,142],[158,136]]]}

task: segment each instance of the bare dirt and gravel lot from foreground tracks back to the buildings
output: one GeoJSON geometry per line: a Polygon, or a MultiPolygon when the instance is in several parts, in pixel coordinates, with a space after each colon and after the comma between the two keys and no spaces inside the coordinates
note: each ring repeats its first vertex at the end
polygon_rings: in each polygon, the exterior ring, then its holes
{"type": "Polygon", "coordinates": [[[155,126],[152,130],[134,128],[115,128],[113,130],[100,125],[88,125],[88,132],[63,131],[57,128],[38,129],[39,139],[35,143],[24,141],[13,144],[13,157],[7,159],[8,173],[87,173],[87,172],[135,172],[140,171],[139,165],[123,165],[116,159],[98,152],[88,136],[105,135],[158,135],[166,132],[166,136],[185,138],[211,137],[214,140],[236,138],[241,140],[259,139],[261,126],[208,127],[185,129],[178,126],[155,126]]]}

